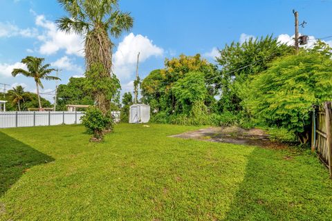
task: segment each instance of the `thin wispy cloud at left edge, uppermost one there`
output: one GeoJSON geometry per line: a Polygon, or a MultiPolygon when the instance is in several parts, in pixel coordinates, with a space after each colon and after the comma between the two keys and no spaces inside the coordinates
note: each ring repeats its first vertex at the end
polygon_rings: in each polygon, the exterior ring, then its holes
{"type": "Polygon", "coordinates": [[[36,37],[37,29],[21,29],[12,23],[0,22],[0,37],[36,37]]]}

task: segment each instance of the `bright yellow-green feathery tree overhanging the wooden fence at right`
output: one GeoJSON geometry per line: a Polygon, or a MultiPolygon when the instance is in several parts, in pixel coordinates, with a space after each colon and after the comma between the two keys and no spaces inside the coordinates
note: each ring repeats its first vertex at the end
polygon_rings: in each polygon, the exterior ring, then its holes
{"type": "Polygon", "coordinates": [[[332,60],[302,52],[273,61],[252,80],[245,104],[268,126],[287,128],[306,143],[313,104],[332,99],[332,60]]]}

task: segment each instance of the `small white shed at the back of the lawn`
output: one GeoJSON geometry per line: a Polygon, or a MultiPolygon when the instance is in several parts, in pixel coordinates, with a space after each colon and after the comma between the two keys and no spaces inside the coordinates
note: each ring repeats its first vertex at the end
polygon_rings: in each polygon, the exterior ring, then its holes
{"type": "Polygon", "coordinates": [[[146,104],[133,104],[129,109],[129,123],[147,123],[150,120],[150,106],[146,104]]]}

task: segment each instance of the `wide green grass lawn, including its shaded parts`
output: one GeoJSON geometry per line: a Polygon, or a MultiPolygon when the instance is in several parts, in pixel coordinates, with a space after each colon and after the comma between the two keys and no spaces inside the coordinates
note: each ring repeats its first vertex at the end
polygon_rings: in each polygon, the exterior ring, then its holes
{"type": "Polygon", "coordinates": [[[332,220],[315,156],[168,137],[194,129],[2,129],[0,220],[332,220]]]}

